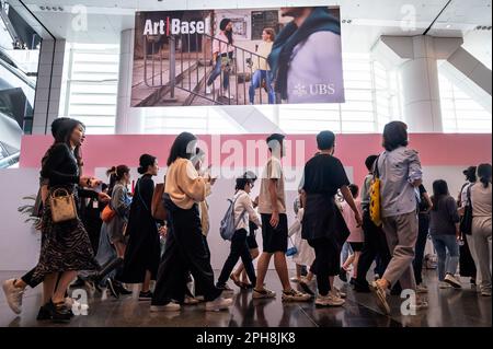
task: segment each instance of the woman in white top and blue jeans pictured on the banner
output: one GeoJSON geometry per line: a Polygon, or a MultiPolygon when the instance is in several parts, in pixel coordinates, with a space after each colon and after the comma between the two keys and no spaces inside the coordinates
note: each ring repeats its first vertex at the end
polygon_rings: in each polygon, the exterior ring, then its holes
{"type": "Polygon", "coordinates": [[[265,80],[266,90],[268,93],[268,104],[275,103],[275,93],[274,88],[272,85],[272,74],[271,68],[267,63],[267,57],[271,55],[272,46],[276,38],[276,34],[273,28],[266,27],[262,32],[262,43],[259,45],[256,49],[256,56],[252,57],[253,70],[254,73],[252,75],[252,81],[250,82],[249,89],[249,97],[250,104],[254,103],[255,100],[255,90],[259,89],[262,84],[262,81],[265,80]]]}

